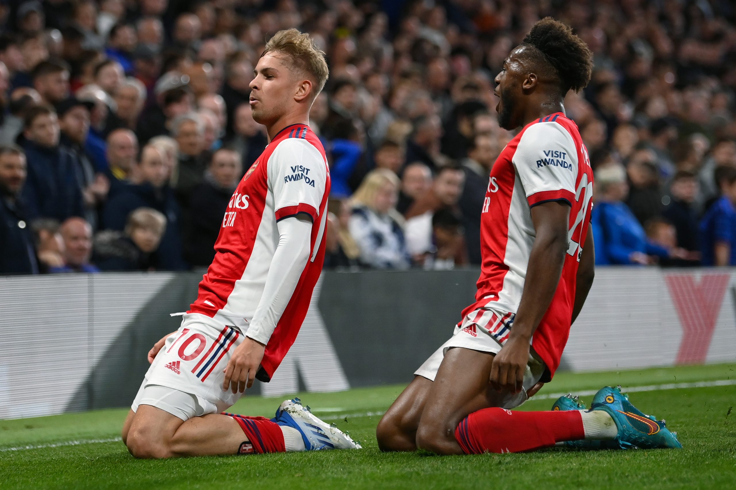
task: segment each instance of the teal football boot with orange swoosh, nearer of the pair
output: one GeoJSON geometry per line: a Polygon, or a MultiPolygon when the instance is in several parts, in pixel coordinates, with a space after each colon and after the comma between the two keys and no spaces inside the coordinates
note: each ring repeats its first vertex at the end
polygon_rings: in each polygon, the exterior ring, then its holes
{"type": "Polygon", "coordinates": [[[631,405],[629,397],[621,393],[620,386],[605,386],[598,390],[590,410],[603,410],[616,422],[618,436],[615,442],[621,449],[682,448],[677,433],[670,432],[664,420],[643,414],[631,405]]]}

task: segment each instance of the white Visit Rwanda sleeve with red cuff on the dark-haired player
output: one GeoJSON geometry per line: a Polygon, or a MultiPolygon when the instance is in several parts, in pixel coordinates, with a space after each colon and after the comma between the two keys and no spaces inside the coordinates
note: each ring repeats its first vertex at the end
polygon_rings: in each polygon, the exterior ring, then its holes
{"type": "Polygon", "coordinates": [[[558,123],[542,122],[522,134],[512,158],[529,206],[548,201],[575,202],[578,151],[573,137],[558,123]]]}

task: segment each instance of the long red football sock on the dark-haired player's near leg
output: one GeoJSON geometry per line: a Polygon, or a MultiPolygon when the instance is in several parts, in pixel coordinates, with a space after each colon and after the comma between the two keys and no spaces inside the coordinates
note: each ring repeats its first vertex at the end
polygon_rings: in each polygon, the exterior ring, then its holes
{"type": "Polygon", "coordinates": [[[520,453],[584,436],[583,419],[577,410],[484,408],[465,417],[455,430],[455,439],[467,454],[520,453]]]}

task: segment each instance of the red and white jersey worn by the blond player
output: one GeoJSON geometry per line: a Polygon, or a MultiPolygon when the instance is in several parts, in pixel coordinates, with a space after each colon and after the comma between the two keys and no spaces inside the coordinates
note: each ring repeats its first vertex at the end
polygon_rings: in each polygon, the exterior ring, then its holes
{"type": "Polygon", "coordinates": [[[279,131],[233,193],[215,243],[215,258],[188,311],[245,330],[261,301],[279,242],[277,221],[310,215],[311,254],[261,362],[268,378],[294,343],[322,272],[329,194],[330,170],[319,138],[305,124],[279,131]]]}

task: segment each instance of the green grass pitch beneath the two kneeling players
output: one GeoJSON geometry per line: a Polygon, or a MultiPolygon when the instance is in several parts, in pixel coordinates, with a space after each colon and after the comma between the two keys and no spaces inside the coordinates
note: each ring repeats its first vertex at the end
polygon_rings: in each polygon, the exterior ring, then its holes
{"type": "MultiPolygon", "coordinates": [[[[523,406],[548,410],[550,394],[605,384],[649,386],[631,392],[631,401],[667,419],[683,450],[382,454],[375,426],[403,386],[300,395],[319,417],[360,440],[360,451],[142,461],[132,458],[119,440],[127,408],[0,420],[0,489],[733,489],[736,386],[651,388],[734,379],[736,364],[559,373],[537,395],[546,399],[523,406]]],[[[272,417],[285,398],[244,397],[232,411],[272,417]]],[[[590,403],[592,396],[583,398],[590,403]]]]}

